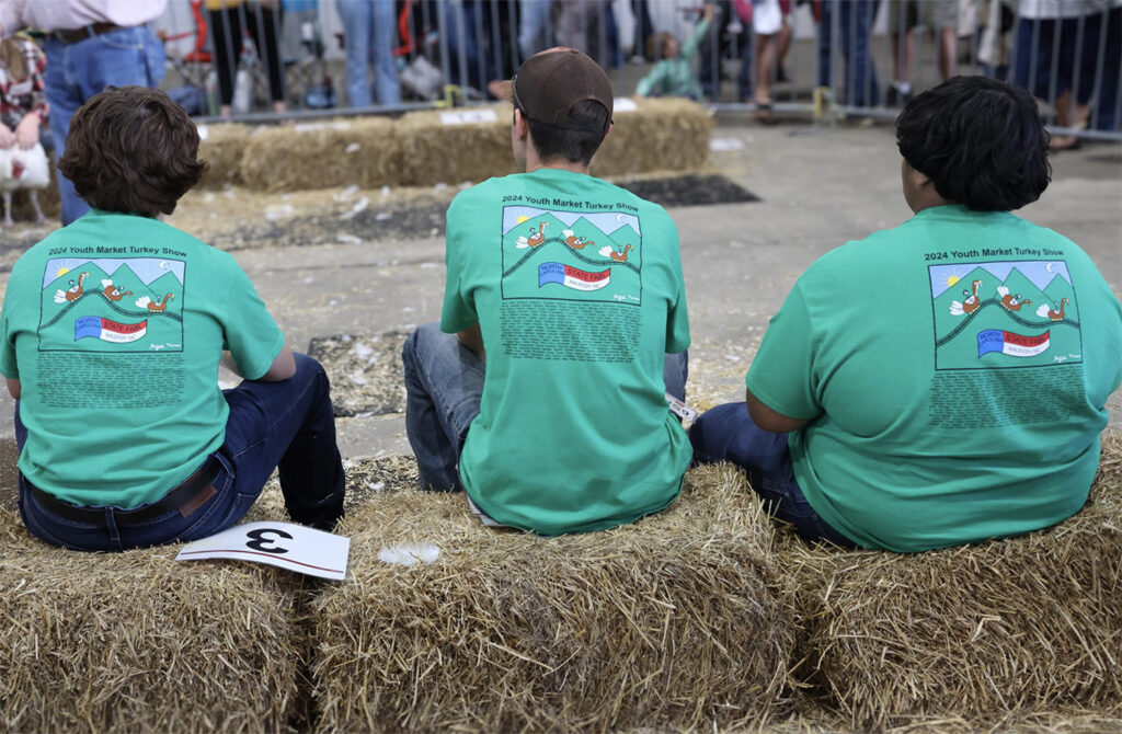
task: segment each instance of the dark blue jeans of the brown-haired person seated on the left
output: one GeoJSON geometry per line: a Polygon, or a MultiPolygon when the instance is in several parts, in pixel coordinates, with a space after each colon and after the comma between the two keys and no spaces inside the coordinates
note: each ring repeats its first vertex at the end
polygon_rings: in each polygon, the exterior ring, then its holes
{"type": "MultiPolygon", "coordinates": [[[[120,551],[199,540],[241,520],[277,468],[293,521],[330,530],[343,514],[343,467],[335,446],[330,386],[319,363],[304,355],[295,357],[296,374],[286,380],[245,380],[224,392],[230,406],[226,439],[211,455],[221,465],[213,481],[215,494],[187,517],[172,510],[127,524],[107,507],[98,522],[76,522],[40,505],[20,474],[24,524],[36,538],[74,550],[120,551]]],[[[17,403],[20,450],[26,439],[17,403]]]]}

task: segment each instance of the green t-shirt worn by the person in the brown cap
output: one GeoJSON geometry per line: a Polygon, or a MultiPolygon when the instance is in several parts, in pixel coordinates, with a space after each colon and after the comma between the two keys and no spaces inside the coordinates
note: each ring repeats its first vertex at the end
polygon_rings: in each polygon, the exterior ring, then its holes
{"type": "Polygon", "coordinates": [[[490,178],[448,210],[441,329],[479,323],[487,376],[460,478],[495,520],[601,530],[674,501],[692,451],[666,407],[689,346],[678,231],[591,176],[490,178]]]}

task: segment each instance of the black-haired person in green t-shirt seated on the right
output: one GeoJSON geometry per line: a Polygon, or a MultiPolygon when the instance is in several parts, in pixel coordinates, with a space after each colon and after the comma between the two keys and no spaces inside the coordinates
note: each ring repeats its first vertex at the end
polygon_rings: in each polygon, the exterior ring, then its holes
{"type": "Polygon", "coordinates": [[[1048,185],[1032,99],[957,76],[896,121],[902,226],[798,279],[745,403],[690,429],[807,539],[917,552],[1054,525],[1086,502],[1122,306],[1075,242],[1009,210],[1048,185]]]}

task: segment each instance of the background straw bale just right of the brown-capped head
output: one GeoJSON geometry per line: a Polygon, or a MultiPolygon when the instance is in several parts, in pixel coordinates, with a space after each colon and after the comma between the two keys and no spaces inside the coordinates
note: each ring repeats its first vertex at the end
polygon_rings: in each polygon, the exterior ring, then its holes
{"type": "Polygon", "coordinates": [[[654,171],[697,171],[709,164],[712,118],[683,99],[635,100],[616,112],[611,135],[592,158],[592,175],[622,176],[654,171]]]}

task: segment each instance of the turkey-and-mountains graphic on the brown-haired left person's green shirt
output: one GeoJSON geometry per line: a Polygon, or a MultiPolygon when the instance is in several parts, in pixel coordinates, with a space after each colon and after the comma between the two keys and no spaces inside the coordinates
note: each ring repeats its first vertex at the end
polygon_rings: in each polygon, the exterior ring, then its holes
{"type": "Polygon", "coordinates": [[[183,260],[47,260],[40,351],[183,351],[183,260]]]}

